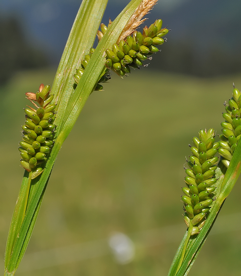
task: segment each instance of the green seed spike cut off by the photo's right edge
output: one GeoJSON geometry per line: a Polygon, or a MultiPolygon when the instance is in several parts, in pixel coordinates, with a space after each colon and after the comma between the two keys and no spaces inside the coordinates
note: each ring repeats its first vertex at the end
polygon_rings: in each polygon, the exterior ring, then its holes
{"type": "Polygon", "coordinates": [[[228,167],[235,148],[241,137],[241,93],[234,87],[233,97],[225,102],[226,112],[223,113],[225,122],[221,123],[223,134],[220,135],[218,153],[222,156],[221,162],[228,167]]]}

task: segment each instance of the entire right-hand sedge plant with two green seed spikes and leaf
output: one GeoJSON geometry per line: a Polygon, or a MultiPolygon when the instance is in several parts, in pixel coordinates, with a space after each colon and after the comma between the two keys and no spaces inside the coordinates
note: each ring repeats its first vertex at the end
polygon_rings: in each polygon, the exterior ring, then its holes
{"type": "Polygon", "coordinates": [[[182,188],[184,221],[188,229],[168,276],[188,274],[241,172],[241,93],[234,84],[233,87],[231,99],[224,102],[225,121],[221,123],[219,140],[215,142],[213,128],[201,129],[199,137],[192,139],[192,155],[185,168],[187,185],[182,188]]]}

